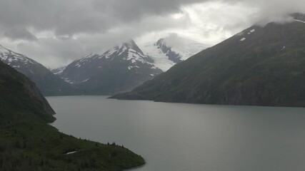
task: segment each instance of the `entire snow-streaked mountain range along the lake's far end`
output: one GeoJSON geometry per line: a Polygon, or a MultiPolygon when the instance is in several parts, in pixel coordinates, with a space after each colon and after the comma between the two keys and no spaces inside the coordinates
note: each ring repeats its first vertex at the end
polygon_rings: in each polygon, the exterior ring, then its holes
{"type": "Polygon", "coordinates": [[[34,81],[44,95],[109,95],[132,90],[204,48],[201,43],[175,38],[146,44],[145,53],[130,40],[54,69],[3,46],[0,59],[34,81]]]}

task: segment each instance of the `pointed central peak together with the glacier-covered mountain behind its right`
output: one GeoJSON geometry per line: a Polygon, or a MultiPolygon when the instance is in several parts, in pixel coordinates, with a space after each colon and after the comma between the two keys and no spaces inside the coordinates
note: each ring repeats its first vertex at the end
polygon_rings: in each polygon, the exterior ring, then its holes
{"type": "Polygon", "coordinates": [[[51,71],[86,93],[109,95],[132,90],[205,47],[179,36],[160,38],[141,48],[130,40],[51,71]]]}

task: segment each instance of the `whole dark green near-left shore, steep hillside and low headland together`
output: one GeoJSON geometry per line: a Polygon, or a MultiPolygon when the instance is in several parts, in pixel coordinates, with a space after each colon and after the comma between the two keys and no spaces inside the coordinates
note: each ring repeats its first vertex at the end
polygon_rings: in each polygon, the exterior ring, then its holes
{"type": "Polygon", "coordinates": [[[144,159],[47,125],[54,111],[35,84],[0,62],[0,170],[124,170],[144,159]],[[76,152],[75,152],[76,151],[76,152]],[[67,154],[68,152],[75,152],[67,154]]]}

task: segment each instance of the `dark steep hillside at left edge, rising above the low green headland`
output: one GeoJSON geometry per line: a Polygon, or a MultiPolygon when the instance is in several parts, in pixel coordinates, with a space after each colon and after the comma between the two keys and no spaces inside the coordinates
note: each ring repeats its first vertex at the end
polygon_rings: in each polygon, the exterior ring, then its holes
{"type": "Polygon", "coordinates": [[[54,110],[29,78],[0,61],[0,110],[31,110],[53,121],[54,110]]]}

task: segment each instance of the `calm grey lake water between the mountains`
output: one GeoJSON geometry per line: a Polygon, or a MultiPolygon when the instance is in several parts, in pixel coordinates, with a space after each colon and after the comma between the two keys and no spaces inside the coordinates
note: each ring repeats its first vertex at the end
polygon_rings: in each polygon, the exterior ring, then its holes
{"type": "Polygon", "coordinates": [[[305,108],[47,99],[61,132],[142,155],[135,171],[305,170],[305,108]]]}

